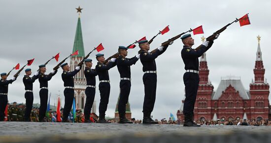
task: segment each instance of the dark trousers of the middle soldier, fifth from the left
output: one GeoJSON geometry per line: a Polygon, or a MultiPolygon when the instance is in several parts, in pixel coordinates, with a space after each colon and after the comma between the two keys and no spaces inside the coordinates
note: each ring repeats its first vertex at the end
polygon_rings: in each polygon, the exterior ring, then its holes
{"type": "Polygon", "coordinates": [[[85,120],[89,120],[91,107],[93,105],[94,98],[95,98],[95,88],[87,87],[85,93],[86,93],[87,98],[86,98],[86,104],[84,107],[84,115],[85,115],[85,120]]]}

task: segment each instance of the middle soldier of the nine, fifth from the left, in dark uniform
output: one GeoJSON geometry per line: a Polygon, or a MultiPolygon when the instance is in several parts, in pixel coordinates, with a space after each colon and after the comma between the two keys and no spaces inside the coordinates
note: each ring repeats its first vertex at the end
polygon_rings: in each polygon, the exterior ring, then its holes
{"type": "Polygon", "coordinates": [[[84,116],[85,116],[85,123],[91,123],[90,121],[90,113],[91,113],[91,107],[94,102],[95,98],[95,89],[96,89],[96,79],[95,76],[97,76],[97,72],[95,69],[91,69],[92,67],[92,59],[86,59],[85,60],[85,77],[87,79],[87,88],[86,88],[86,104],[84,107],[84,116]]]}

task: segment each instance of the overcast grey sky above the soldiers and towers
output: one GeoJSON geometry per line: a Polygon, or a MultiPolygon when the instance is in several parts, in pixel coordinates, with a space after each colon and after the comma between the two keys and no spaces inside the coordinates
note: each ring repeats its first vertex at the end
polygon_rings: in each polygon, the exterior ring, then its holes
{"type": "MultiPolygon", "coordinates": [[[[72,52],[78,14],[76,7],[83,8],[81,26],[85,53],[101,42],[105,58],[117,52],[119,45],[129,45],[146,36],[150,39],[159,30],[169,25],[170,31],[159,35],[152,42],[151,49],[157,48],[167,39],[189,28],[203,25],[204,34],[193,36],[194,48],[202,43],[201,36],[210,36],[226,24],[249,13],[251,25],[240,27],[234,23],[214,41],[207,51],[210,70],[209,79],[216,90],[222,76],[240,76],[245,89],[254,78],[253,69],[261,38],[261,50],[266,69],[265,78],[271,81],[271,46],[268,41],[271,33],[270,0],[0,0],[0,72],[8,72],[17,63],[35,58],[28,67],[36,70],[49,58],[60,52],[60,60],[72,52]],[[270,80],[269,80],[270,79],[270,80]]],[[[184,98],[184,64],[180,51],[183,44],[175,40],[168,50],[156,59],[157,98],[153,117],[169,118],[181,107],[184,98]]],[[[129,50],[128,58],[139,50],[129,50]]],[[[90,57],[94,59],[94,52],[90,57]]],[[[69,63],[69,61],[68,61],[69,63]]],[[[57,64],[51,61],[47,73],[57,64]]],[[[34,71],[33,70],[33,71],[34,71]]],[[[138,61],[131,67],[132,88],[129,98],[132,117],[142,119],[144,87],[142,65],[138,61]]],[[[13,71],[11,75],[15,74],[13,71]]],[[[56,95],[63,95],[61,70],[49,81],[51,103],[56,95]]],[[[9,85],[8,100],[25,103],[23,78],[24,72],[9,85]]],[[[109,71],[111,94],[107,116],[114,116],[119,95],[119,73],[117,68],[109,71]]],[[[12,76],[9,76],[11,78],[12,76]]],[[[98,80],[98,77],[96,78],[98,80]]],[[[98,84],[97,84],[98,85],[98,84]]],[[[39,103],[39,83],[34,83],[34,103],[39,103]]],[[[96,89],[97,108],[100,94],[96,89]]],[[[62,103],[64,106],[64,101],[62,103]]],[[[98,110],[97,110],[98,113],[98,110]]]]}

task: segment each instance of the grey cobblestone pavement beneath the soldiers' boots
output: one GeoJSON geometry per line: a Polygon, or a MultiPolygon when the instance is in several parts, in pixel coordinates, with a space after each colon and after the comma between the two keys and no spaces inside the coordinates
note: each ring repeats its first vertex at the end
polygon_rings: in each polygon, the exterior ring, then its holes
{"type": "Polygon", "coordinates": [[[0,122],[0,143],[271,143],[268,126],[0,122]]]}

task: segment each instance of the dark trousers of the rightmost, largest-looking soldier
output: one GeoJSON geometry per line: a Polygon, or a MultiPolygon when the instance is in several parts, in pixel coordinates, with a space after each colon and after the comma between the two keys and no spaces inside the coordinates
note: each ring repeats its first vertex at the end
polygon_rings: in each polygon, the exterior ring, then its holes
{"type": "Polygon", "coordinates": [[[185,85],[185,100],[183,105],[183,114],[191,114],[194,112],[197,92],[200,82],[198,73],[185,72],[183,75],[185,85]]]}

